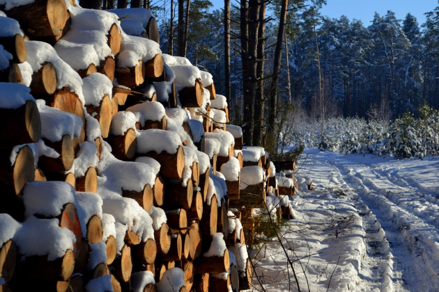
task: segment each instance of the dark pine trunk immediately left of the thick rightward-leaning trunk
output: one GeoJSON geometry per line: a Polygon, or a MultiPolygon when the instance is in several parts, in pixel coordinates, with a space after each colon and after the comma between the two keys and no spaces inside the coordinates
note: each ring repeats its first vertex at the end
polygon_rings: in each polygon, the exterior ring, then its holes
{"type": "Polygon", "coordinates": [[[258,30],[258,51],[257,51],[257,65],[256,65],[256,79],[258,87],[256,88],[256,96],[254,99],[254,130],[253,130],[253,145],[261,145],[262,141],[262,127],[263,127],[263,65],[265,59],[265,1],[261,2],[259,10],[259,30],[258,30]]]}

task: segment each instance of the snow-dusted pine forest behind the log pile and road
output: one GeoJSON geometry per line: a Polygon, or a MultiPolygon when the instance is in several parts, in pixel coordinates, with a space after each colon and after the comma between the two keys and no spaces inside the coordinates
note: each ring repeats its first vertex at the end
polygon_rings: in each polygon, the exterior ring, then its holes
{"type": "Polygon", "coordinates": [[[102,5],[150,8],[162,51],[213,74],[245,143],[275,155],[289,115],[306,113],[324,129],[334,116],[394,120],[407,111],[418,117],[424,101],[439,108],[439,7],[424,24],[389,10],[366,25],[321,15],[324,0],[228,1],[230,17],[209,0],[102,5]]]}

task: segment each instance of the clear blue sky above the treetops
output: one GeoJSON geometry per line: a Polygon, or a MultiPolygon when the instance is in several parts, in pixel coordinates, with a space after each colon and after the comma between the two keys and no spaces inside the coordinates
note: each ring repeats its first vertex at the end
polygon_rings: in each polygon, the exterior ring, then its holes
{"type": "MultiPolygon", "coordinates": [[[[222,0],[210,0],[215,9],[224,7],[222,0]]],[[[236,0],[231,0],[236,4],[236,0]]],[[[369,26],[375,12],[385,15],[392,10],[396,17],[403,19],[407,13],[415,15],[417,22],[425,22],[424,13],[433,11],[439,6],[438,0],[327,0],[327,5],[321,10],[322,15],[339,18],[346,15],[349,19],[361,19],[364,26],[369,26]]]]}

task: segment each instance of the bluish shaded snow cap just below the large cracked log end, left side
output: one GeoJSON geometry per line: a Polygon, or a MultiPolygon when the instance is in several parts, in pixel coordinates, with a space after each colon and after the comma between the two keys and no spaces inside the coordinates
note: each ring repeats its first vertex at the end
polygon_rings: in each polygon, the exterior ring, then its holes
{"type": "Polygon", "coordinates": [[[64,135],[79,137],[82,119],[78,115],[46,106],[43,99],[36,101],[41,118],[41,136],[51,142],[60,141],[64,135]]]}

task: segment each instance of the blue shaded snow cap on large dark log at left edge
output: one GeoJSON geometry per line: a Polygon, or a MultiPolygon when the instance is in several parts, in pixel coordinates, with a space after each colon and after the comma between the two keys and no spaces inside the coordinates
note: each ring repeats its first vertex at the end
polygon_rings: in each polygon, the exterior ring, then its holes
{"type": "Polygon", "coordinates": [[[31,89],[17,83],[0,83],[0,108],[20,108],[28,100],[35,102],[31,89]]]}

